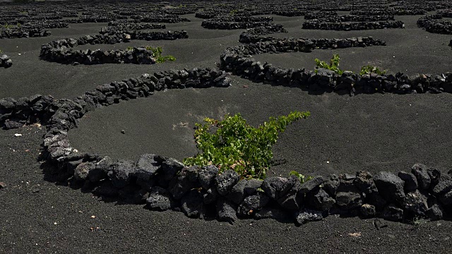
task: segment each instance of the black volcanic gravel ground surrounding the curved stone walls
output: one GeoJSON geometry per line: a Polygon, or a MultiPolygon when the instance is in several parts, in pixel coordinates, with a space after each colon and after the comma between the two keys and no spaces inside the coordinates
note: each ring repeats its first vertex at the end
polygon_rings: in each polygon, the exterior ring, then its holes
{"type": "MultiPolygon", "coordinates": [[[[73,98],[96,85],[142,73],[214,67],[222,49],[238,44],[242,30],[206,30],[194,15],[182,17],[192,22],[168,24],[167,29],[185,29],[190,39],[153,42],[163,47],[164,54],[177,58],[154,66],[65,66],[38,59],[41,44],[93,35],[105,23],[71,24],[68,29],[52,30],[51,37],[0,40],[0,48],[13,59],[12,68],[0,70],[0,97],[40,93],[73,98]]],[[[371,35],[388,43],[387,47],[337,51],[342,68],[357,71],[371,61],[410,74],[451,71],[450,37],[416,28],[417,16],[396,17],[405,22],[406,30],[357,32],[302,30],[301,17],[273,17],[274,23],[283,23],[290,31],[274,35],[278,37],[371,35]]],[[[146,44],[151,43],[100,47],[146,44]]],[[[328,60],[334,53],[319,49],[311,54],[263,54],[256,59],[283,67],[314,68],[314,58],[328,60]]],[[[273,150],[277,159],[287,163],[273,167],[270,174],[287,176],[292,169],[304,174],[406,171],[415,162],[441,171],[451,169],[450,94],[308,95],[297,88],[233,80],[228,88],[169,90],[91,112],[70,132],[71,142],[78,150],[117,158],[136,159],[144,152],[156,152],[182,159],[196,153],[192,128],[203,116],[240,112],[256,125],[268,116],[299,109],[311,111],[312,116],[280,135],[273,150]]],[[[0,188],[0,253],[450,253],[452,249],[452,222],[445,221],[412,226],[331,216],[299,227],[271,219],[239,220],[231,226],[189,219],[182,212],[150,212],[140,205],[101,202],[90,193],[44,179],[47,169],[36,160],[44,135],[41,128],[0,131],[0,182],[6,183],[0,188]],[[16,137],[16,133],[23,135],[16,137]]]]}

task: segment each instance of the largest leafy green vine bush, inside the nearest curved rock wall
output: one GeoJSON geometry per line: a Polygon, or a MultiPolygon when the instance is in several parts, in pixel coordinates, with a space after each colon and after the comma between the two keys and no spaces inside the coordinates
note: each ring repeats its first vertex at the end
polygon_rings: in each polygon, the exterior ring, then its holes
{"type": "Polygon", "coordinates": [[[202,153],[184,159],[184,164],[215,165],[220,173],[236,171],[242,179],[265,179],[273,159],[272,145],[290,123],[310,116],[309,111],[293,111],[277,119],[270,117],[258,128],[249,126],[240,114],[227,114],[223,120],[206,118],[196,123],[194,138],[202,153]]]}

